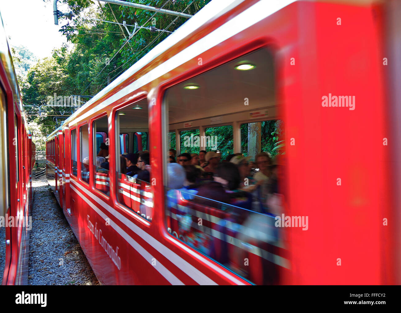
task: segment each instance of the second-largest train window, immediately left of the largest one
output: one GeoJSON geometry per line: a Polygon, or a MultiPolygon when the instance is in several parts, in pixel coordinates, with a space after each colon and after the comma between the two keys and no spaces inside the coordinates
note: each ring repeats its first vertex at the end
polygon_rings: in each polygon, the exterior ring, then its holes
{"type": "MultiPolygon", "coordinates": [[[[128,105],[115,113],[116,147],[116,193],[120,204],[134,211],[148,221],[153,216],[153,195],[150,173],[145,169],[149,164],[148,147],[148,103],[146,100],[128,105]],[[123,154],[127,147],[124,135],[133,138],[132,152],[123,154]],[[138,153],[139,152],[139,153],[138,153]]],[[[129,150],[128,150],[129,151],[129,150]]]]}

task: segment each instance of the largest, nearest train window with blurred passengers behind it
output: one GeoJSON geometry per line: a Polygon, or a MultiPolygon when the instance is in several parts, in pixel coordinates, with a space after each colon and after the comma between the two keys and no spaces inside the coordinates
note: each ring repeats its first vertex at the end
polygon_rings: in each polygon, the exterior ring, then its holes
{"type": "Polygon", "coordinates": [[[170,129],[190,129],[180,132],[180,152],[207,151],[207,162],[197,165],[163,158],[168,232],[252,283],[277,283],[280,267],[289,267],[282,231],[275,227],[284,203],[281,163],[276,158],[273,165],[264,152],[271,150],[263,150],[266,140],[277,142],[275,130],[261,134],[263,121],[278,117],[273,56],[259,49],[192,77],[168,88],[163,104],[163,139],[170,129]],[[241,131],[252,138],[246,147],[241,131]]]}

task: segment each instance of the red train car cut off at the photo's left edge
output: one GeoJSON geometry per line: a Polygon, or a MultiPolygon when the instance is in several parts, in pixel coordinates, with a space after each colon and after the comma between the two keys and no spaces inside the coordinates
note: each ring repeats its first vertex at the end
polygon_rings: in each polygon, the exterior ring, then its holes
{"type": "Polygon", "coordinates": [[[0,283],[21,285],[28,281],[35,145],[3,24],[0,28],[0,283]]]}

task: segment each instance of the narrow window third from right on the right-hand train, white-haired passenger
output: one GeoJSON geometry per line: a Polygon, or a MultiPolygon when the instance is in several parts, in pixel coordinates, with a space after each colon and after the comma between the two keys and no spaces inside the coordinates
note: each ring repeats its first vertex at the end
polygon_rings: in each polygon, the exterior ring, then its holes
{"type": "Polygon", "coordinates": [[[93,142],[93,182],[97,190],[107,195],[110,194],[108,127],[107,116],[93,122],[93,134],[96,134],[93,142]]]}

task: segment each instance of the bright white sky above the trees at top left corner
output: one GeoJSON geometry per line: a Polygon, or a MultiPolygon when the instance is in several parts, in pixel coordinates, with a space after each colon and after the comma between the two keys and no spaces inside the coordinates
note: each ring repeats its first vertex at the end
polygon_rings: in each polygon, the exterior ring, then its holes
{"type": "MultiPolygon", "coordinates": [[[[58,4],[62,12],[69,12],[67,7],[58,4]]],[[[53,1],[43,0],[0,0],[0,12],[8,43],[12,46],[23,45],[38,58],[51,55],[53,48],[59,48],[67,42],[58,30],[67,20],[59,18],[59,25],[54,24],[53,1]]]]}

